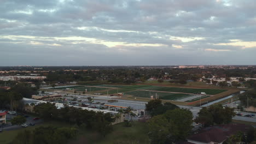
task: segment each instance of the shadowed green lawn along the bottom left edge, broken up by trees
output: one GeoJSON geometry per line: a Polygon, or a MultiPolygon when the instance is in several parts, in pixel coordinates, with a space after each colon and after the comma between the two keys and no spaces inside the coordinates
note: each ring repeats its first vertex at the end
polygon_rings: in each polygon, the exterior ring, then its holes
{"type": "MultiPolygon", "coordinates": [[[[113,126],[113,131],[106,137],[100,136],[92,130],[79,129],[79,135],[76,140],[71,140],[69,144],[118,144],[118,143],[149,143],[149,138],[146,130],[144,129],[146,123],[133,122],[132,127],[124,127],[123,123],[113,126]]],[[[18,130],[3,131],[0,133],[0,143],[7,144],[14,139],[20,132],[26,130],[33,130],[40,126],[54,126],[54,127],[72,127],[74,125],[62,122],[46,122],[44,124],[36,125],[33,127],[21,128],[18,130]]]]}

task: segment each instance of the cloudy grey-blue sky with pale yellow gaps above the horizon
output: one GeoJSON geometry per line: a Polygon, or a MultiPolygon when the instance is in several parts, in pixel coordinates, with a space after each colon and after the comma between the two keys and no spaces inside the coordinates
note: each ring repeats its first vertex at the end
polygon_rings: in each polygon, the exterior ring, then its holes
{"type": "Polygon", "coordinates": [[[0,65],[256,64],[255,0],[0,0],[0,65]]]}

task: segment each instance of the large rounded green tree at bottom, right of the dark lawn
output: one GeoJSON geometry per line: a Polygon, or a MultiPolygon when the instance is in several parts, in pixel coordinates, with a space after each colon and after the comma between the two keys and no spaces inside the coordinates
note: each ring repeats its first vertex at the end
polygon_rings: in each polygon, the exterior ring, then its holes
{"type": "Polygon", "coordinates": [[[148,135],[151,143],[171,143],[184,140],[193,128],[193,114],[189,110],[168,110],[163,115],[148,121],[148,135]]]}

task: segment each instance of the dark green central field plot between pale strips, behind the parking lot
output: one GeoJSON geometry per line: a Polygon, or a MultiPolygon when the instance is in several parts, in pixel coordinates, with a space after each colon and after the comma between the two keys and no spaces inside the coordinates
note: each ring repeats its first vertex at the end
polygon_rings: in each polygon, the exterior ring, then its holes
{"type": "Polygon", "coordinates": [[[133,97],[149,98],[149,94],[155,96],[156,93],[159,95],[159,99],[164,99],[164,100],[177,100],[185,97],[190,97],[190,94],[161,93],[161,92],[148,92],[148,91],[132,91],[132,92],[126,92],[125,94],[132,95],[133,97]]]}

